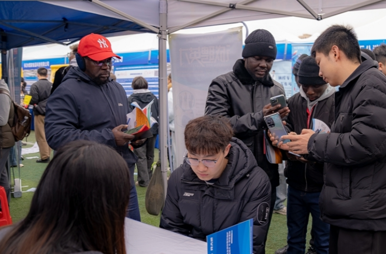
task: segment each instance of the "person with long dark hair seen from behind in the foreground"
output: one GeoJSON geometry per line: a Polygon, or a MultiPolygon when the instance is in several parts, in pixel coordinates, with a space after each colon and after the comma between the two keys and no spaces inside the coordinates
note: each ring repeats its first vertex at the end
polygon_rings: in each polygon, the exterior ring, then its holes
{"type": "Polygon", "coordinates": [[[125,254],[129,195],[122,156],[91,141],[68,143],[44,171],[27,217],[0,229],[1,252],[125,254]]]}

